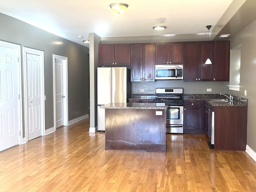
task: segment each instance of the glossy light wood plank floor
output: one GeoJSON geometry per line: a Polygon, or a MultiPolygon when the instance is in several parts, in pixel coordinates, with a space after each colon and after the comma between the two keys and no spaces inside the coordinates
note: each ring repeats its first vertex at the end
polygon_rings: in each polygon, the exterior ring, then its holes
{"type": "Polygon", "coordinates": [[[256,192],[246,152],[214,151],[204,134],[168,134],[167,152],[105,150],[89,119],[0,152],[1,192],[256,192]]]}

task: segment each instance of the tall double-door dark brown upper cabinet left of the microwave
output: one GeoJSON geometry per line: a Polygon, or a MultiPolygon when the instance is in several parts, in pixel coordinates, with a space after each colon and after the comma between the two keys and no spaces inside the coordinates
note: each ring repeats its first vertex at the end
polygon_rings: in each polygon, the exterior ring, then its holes
{"type": "Polygon", "coordinates": [[[155,81],[155,44],[131,44],[131,81],[155,81]]]}

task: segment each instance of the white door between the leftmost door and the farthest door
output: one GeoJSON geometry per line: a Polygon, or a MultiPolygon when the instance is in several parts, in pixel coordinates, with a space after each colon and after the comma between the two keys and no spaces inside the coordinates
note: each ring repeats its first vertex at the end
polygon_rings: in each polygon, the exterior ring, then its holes
{"type": "Polygon", "coordinates": [[[28,141],[42,136],[44,129],[43,52],[24,48],[26,64],[26,119],[28,141]],[[36,54],[39,52],[39,54],[36,54]]]}

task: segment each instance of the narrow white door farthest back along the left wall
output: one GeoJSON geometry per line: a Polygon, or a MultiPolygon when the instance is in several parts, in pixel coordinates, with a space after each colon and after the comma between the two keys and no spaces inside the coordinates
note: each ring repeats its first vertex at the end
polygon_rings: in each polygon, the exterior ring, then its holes
{"type": "Polygon", "coordinates": [[[56,128],[68,125],[67,57],[53,55],[56,128]]]}

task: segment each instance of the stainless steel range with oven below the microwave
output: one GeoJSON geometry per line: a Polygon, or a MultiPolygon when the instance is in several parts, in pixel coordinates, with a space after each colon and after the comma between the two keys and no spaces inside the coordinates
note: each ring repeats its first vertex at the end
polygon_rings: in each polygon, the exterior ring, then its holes
{"type": "Polygon", "coordinates": [[[166,133],[183,133],[183,88],[156,88],[158,106],[166,110],[166,133]]]}

